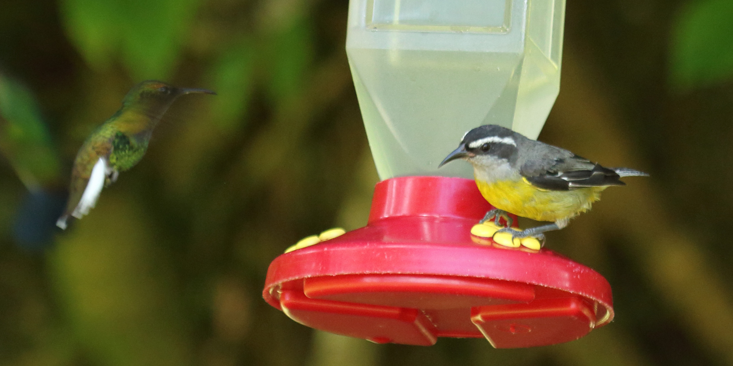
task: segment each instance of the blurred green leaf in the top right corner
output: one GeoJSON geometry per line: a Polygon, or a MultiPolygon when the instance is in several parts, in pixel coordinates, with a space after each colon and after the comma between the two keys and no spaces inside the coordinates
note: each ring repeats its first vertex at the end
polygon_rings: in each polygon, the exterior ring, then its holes
{"type": "Polygon", "coordinates": [[[733,76],[733,1],[697,1],[680,13],[670,72],[672,82],[685,89],[733,76]]]}

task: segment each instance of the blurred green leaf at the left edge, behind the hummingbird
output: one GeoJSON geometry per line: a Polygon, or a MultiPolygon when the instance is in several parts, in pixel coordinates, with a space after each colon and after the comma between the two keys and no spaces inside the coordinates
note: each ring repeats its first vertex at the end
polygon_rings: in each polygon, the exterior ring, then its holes
{"type": "Polygon", "coordinates": [[[59,179],[56,150],[33,94],[4,75],[0,75],[0,152],[30,190],[59,179]]]}

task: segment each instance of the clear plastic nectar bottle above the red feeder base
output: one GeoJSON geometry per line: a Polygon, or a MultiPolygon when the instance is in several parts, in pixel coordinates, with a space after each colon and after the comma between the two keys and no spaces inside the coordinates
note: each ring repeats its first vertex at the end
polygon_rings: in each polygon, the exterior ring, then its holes
{"type": "Polygon", "coordinates": [[[438,164],[464,132],[537,138],[557,97],[565,0],[351,0],[346,51],[381,179],[438,164]]]}

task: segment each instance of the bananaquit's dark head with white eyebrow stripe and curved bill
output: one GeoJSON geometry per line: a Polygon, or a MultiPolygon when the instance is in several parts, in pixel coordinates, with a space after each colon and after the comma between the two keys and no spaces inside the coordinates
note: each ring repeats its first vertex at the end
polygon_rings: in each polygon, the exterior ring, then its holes
{"type": "Polygon", "coordinates": [[[517,143],[526,139],[508,128],[496,124],[486,124],[465,132],[460,146],[443,159],[438,168],[452,160],[468,160],[476,164],[487,160],[501,160],[512,163],[517,157],[517,143]]]}

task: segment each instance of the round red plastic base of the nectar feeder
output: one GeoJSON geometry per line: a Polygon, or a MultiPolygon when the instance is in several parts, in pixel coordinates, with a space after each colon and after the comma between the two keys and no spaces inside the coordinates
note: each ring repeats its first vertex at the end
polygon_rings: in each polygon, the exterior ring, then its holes
{"type": "Polygon", "coordinates": [[[280,255],[263,296],[315,329],[419,346],[438,337],[546,346],[614,318],[611,286],[594,270],[472,236],[490,209],[470,179],[387,179],[367,226],[280,255]]]}

